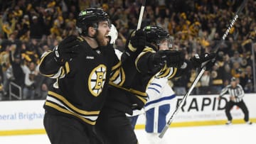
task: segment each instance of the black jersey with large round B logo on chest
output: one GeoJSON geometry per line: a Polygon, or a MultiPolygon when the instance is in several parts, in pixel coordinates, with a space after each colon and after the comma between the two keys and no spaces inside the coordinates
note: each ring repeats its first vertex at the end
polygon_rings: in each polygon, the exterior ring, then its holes
{"type": "MultiPolygon", "coordinates": [[[[110,73],[121,72],[121,62],[112,46],[92,49],[85,40],[80,40],[78,57],[65,62],[58,72],[44,74],[57,79],[48,91],[44,108],[95,125],[105,101],[110,73]]],[[[46,57],[50,53],[43,54],[40,65],[47,64],[46,57]]]]}

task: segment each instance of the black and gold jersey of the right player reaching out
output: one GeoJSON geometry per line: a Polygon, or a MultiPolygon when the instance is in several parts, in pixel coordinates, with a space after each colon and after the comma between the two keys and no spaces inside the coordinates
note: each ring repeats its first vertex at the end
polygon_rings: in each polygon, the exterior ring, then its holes
{"type": "Polygon", "coordinates": [[[122,62],[123,75],[126,78],[121,82],[115,81],[112,77],[113,80],[110,81],[112,87],[109,89],[106,106],[129,114],[132,113],[132,109],[142,109],[147,101],[146,88],[151,79],[154,77],[171,78],[176,75],[177,68],[166,67],[166,65],[159,70],[149,72],[148,60],[153,52],[156,52],[154,48],[146,46],[139,55],[132,55],[136,56],[135,58],[129,57],[129,60],[122,62]]]}

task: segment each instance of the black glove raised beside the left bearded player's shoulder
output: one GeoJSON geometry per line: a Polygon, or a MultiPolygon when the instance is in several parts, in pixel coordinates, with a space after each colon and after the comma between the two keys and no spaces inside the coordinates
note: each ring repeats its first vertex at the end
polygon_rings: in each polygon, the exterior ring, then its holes
{"type": "Polygon", "coordinates": [[[65,62],[76,57],[76,55],[78,55],[79,43],[78,38],[74,35],[70,35],[62,40],[60,44],[53,49],[55,61],[58,62],[59,65],[64,65],[65,62]]]}

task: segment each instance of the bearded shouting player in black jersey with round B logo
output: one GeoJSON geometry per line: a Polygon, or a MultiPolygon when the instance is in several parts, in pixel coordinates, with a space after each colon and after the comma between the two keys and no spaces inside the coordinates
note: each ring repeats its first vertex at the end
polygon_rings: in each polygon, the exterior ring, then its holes
{"type": "MultiPolygon", "coordinates": [[[[80,36],[65,38],[44,53],[40,62],[41,74],[56,79],[48,91],[43,120],[54,144],[100,143],[94,125],[105,102],[111,73],[123,72],[108,42],[110,21],[105,11],[81,11],[77,27],[80,36]]],[[[139,45],[145,44],[144,35],[135,37],[139,45]]]]}

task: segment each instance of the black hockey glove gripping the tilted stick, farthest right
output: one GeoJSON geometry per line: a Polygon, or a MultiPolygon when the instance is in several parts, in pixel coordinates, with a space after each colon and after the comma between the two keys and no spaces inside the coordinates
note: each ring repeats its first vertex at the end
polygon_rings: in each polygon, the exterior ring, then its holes
{"type": "Polygon", "coordinates": [[[191,62],[194,67],[206,66],[206,70],[210,70],[215,64],[215,57],[216,55],[214,53],[205,53],[203,55],[196,54],[191,58],[191,62]]]}

